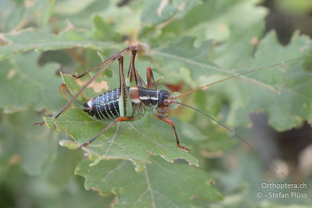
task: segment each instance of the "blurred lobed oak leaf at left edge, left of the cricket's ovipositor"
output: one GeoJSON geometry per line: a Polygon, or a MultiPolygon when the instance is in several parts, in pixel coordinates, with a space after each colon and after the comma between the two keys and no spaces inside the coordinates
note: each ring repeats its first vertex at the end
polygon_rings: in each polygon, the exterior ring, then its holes
{"type": "Polygon", "coordinates": [[[56,75],[59,65],[39,66],[38,58],[39,53],[31,51],[0,62],[0,108],[5,112],[27,109],[30,105],[48,112],[62,107],[64,99],[59,92],[62,82],[56,75]]]}

